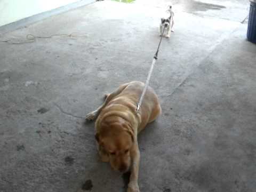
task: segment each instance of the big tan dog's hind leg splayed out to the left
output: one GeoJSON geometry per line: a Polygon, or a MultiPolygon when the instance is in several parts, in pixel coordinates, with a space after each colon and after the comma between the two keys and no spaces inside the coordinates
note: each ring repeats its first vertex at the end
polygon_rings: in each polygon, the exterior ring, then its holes
{"type": "Polygon", "coordinates": [[[106,98],[105,102],[103,103],[103,105],[100,106],[98,109],[92,111],[91,113],[87,114],[87,115],[85,116],[85,119],[86,119],[87,121],[93,121],[94,119],[96,119],[96,118],[98,117],[98,115],[100,114],[100,111],[108,104],[108,102],[109,102],[111,99],[113,99],[114,97],[116,97],[116,95],[118,95],[119,93],[121,93],[121,92],[125,89],[125,87],[126,87],[127,85],[128,85],[127,83],[126,83],[126,84],[123,84],[123,85],[119,86],[118,89],[115,90],[113,93],[110,93],[110,94],[108,94],[108,95],[105,95],[105,96],[107,96],[107,98],[106,98]]]}

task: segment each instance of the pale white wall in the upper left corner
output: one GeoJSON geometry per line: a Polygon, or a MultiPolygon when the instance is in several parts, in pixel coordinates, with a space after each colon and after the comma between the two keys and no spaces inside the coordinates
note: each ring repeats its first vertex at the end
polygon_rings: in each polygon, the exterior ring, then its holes
{"type": "Polygon", "coordinates": [[[0,0],[0,26],[79,0],[0,0]]]}

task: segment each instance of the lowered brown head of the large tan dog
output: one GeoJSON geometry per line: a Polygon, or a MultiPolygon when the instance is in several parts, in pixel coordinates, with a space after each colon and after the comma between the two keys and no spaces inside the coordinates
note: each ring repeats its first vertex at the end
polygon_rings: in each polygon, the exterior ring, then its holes
{"type": "Polygon", "coordinates": [[[95,138],[108,155],[111,167],[116,171],[127,172],[131,165],[132,132],[122,124],[112,124],[101,127],[95,138]]]}

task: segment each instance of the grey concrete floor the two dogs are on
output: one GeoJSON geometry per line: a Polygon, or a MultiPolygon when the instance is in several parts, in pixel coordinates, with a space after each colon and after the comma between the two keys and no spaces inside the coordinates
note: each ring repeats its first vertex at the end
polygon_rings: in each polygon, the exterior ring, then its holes
{"type": "Polygon", "coordinates": [[[248,1],[138,0],[97,2],[0,37],[83,35],[0,43],[1,192],[125,191],[81,117],[103,93],[145,81],[169,2],[175,33],[150,83],[163,114],[139,136],[140,189],[255,191],[256,45],[241,23],[248,1]]]}

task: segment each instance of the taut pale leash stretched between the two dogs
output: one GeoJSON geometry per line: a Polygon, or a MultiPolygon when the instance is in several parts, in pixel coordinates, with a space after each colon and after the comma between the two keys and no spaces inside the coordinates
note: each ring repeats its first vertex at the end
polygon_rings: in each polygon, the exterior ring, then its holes
{"type": "Polygon", "coordinates": [[[156,60],[157,60],[158,51],[159,51],[160,45],[161,45],[161,43],[162,43],[162,39],[163,39],[163,35],[164,35],[164,30],[165,30],[165,28],[166,28],[166,27],[164,26],[164,29],[163,29],[163,32],[162,32],[162,35],[161,35],[160,42],[159,42],[159,44],[158,44],[156,53],[155,53],[154,58],[153,58],[153,61],[152,61],[152,63],[151,63],[151,67],[150,67],[150,70],[149,70],[149,73],[148,73],[147,81],[146,81],[146,83],[145,83],[144,89],[143,89],[142,94],[141,94],[141,96],[140,96],[140,100],[139,100],[139,102],[137,103],[136,113],[139,113],[139,110],[140,110],[140,107],[141,107],[141,103],[142,103],[143,98],[144,98],[144,96],[145,96],[145,93],[146,93],[146,91],[147,91],[147,89],[148,89],[149,80],[150,80],[150,77],[151,77],[151,75],[152,75],[152,72],[153,72],[153,69],[154,69],[154,66],[155,66],[155,62],[156,62],[156,60]]]}

